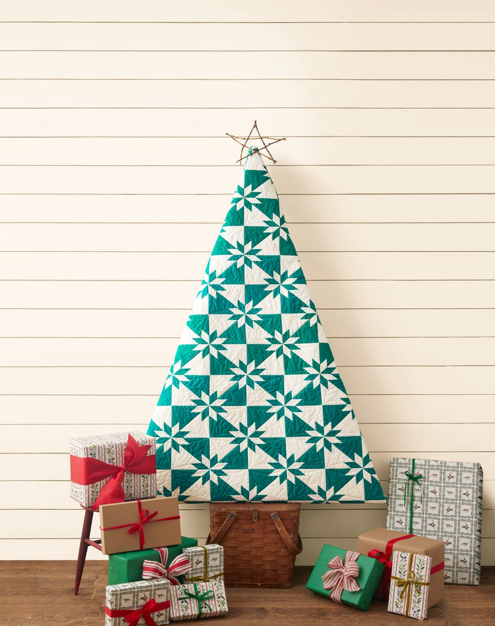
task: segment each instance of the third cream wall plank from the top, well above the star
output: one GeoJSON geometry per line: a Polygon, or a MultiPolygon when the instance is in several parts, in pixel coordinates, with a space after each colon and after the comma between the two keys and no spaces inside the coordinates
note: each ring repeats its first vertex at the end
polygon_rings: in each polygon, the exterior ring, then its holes
{"type": "Polygon", "coordinates": [[[0,78],[493,79],[492,52],[0,52],[0,78]]]}

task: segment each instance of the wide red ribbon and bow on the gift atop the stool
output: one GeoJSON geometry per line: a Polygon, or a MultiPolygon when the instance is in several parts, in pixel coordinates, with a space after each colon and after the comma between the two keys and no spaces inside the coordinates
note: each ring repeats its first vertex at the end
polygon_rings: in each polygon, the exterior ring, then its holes
{"type": "Polygon", "coordinates": [[[71,454],[71,480],[78,485],[93,485],[101,480],[110,478],[99,493],[92,507],[97,511],[100,505],[113,502],[123,502],[126,498],[122,483],[126,471],[133,474],[156,473],[156,456],[146,456],[151,445],[140,446],[134,437],[129,434],[128,443],[124,451],[124,463],[113,465],[99,459],[83,458],[71,454]]]}

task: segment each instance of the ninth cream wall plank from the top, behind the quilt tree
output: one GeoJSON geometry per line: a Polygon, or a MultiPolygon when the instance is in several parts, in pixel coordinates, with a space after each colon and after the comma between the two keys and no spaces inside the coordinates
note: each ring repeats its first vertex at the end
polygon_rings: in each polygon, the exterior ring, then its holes
{"type": "MultiPolygon", "coordinates": [[[[266,240],[271,240],[266,223],[266,240]]],[[[217,224],[4,224],[0,249],[10,251],[210,252],[217,224]]],[[[490,224],[294,224],[296,250],[318,252],[494,250],[490,224]]],[[[244,232],[242,232],[244,236],[244,232]]],[[[231,240],[231,239],[229,239],[231,240]]],[[[236,239],[234,238],[234,242],[236,239]]],[[[244,240],[242,240],[244,243],[244,240]]],[[[237,252],[234,244],[232,250],[237,252]]],[[[262,249],[262,248],[261,248],[262,249]]],[[[232,254],[232,253],[231,253],[232,254]]],[[[261,252],[260,254],[264,254],[261,252]]]]}

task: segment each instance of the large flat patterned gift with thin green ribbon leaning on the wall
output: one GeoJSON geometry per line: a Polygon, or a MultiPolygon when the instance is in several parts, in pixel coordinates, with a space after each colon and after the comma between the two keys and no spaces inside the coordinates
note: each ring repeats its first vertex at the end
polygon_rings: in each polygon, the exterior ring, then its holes
{"type": "Polygon", "coordinates": [[[387,528],[445,541],[445,582],[479,585],[481,465],[392,458],[389,480],[387,528]]]}

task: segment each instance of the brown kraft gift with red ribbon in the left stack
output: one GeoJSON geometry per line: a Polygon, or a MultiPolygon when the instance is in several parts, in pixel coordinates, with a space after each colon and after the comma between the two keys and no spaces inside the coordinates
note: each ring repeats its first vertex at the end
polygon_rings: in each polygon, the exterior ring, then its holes
{"type": "Polygon", "coordinates": [[[102,505],[99,512],[103,554],[181,543],[177,496],[102,505]]]}

